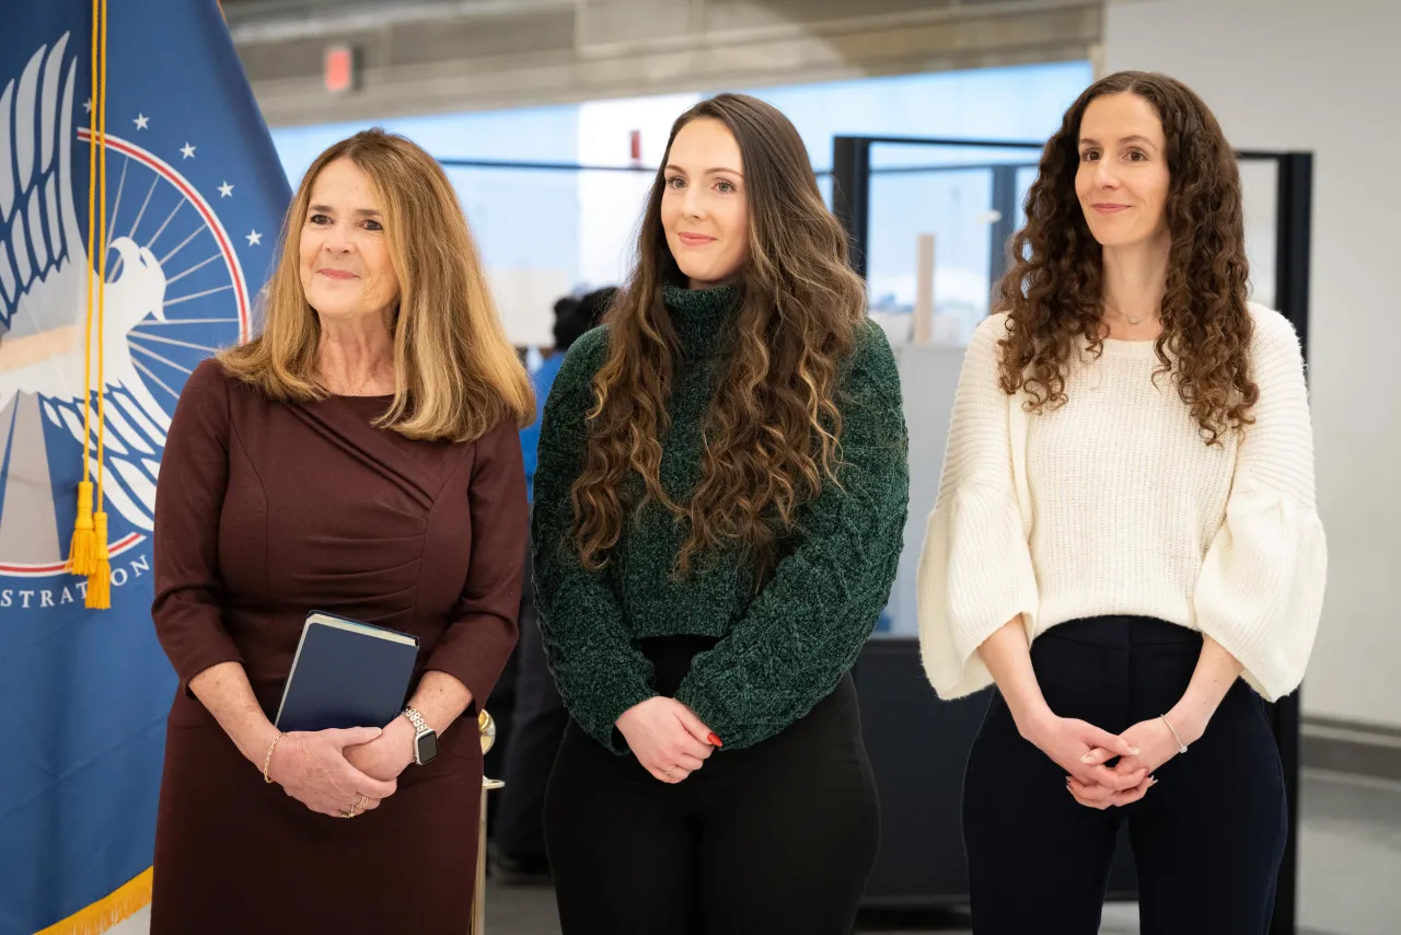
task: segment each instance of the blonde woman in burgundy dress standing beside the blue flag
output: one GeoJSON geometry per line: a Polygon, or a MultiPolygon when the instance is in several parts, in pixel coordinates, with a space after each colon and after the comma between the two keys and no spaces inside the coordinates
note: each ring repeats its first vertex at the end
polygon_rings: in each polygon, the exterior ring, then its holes
{"type": "Polygon", "coordinates": [[[153,615],[181,685],[153,934],[462,931],[532,416],[443,170],[380,130],[322,153],[262,334],[195,370],[161,465],[153,615]],[[402,716],[279,733],[312,608],[419,639],[402,716]]]}

